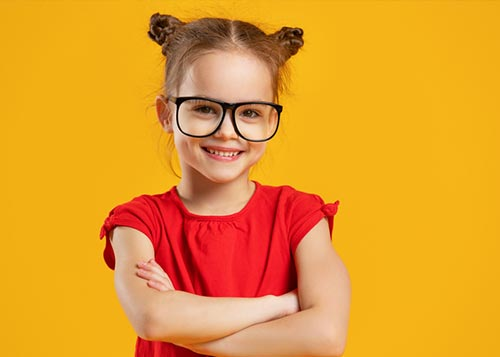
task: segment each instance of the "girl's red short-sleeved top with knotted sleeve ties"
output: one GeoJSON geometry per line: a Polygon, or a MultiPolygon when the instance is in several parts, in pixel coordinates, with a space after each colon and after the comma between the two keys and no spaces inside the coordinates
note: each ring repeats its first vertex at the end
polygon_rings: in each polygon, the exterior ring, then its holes
{"type": "MultiPolygon", "coordinates": [[[[255,184],[246,206],[227,216],[189,212],[175,187],[115,207],[100,234],[107,238],[106,263],[111,269],[115,266],[109,233],[116,226],[127,226],[151,240],[155,260],[177,290],[214,297],[258,297],[295,289],[295,249],[323,217],[332,231],[339,202],[325,204],[319,196],[289,186],[255,184]]],[[[138,337],[136,356],[199,355],[138,337]]]]}

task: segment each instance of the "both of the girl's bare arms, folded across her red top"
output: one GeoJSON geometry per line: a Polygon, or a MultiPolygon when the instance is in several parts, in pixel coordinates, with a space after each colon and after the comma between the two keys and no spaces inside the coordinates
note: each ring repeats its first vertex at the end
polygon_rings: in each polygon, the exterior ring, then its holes
{"type": "Polygon", "coordinates": [[[115,286],[137,334],[213,356],[340,356],[350,281],[321,220],[295,252],[298,289],[282,296],[212,298],[173,289],[151,241],[116,227],[115,286]]]}

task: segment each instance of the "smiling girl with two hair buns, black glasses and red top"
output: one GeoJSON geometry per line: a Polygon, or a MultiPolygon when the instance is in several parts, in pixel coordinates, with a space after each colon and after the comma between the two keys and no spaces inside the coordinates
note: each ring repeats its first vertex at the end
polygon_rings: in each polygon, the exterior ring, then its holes
{"type": "Polygon", "coordinates": [[[117,206],[104,257],[136,356],[338,356],[350,283],[330,242],[338,202],[249,180],[278,129],[285,62],[303,32],[151,17],[166,56],[156,108],[182,178],[117,206]]]}

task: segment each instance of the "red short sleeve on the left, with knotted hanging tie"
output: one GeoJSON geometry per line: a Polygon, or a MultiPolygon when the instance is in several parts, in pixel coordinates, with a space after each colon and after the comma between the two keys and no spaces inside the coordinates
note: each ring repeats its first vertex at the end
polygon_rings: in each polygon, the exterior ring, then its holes
{"type": "Polygon", "coordinates": [[[158,235],[158,223],[154,213],[154,205],[149,202],[148,196],[139,196],[130,202],[116,206],[109,212],[108,217],[104,220],[101,227],[99,237],[106,237],[106,246],[104,248],[104,260],[111,268],[115,268],[115,255],[113,247],[109,240],[110,233],[117,226],[125,226],[137,229],[144,233],[156,247],[158,235]]]}

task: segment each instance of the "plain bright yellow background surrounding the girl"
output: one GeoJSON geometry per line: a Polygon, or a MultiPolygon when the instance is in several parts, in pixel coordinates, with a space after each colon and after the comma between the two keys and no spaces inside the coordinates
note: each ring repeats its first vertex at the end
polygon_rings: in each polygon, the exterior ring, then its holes
{"type": "Polygon", "coordinates": [[[0,354],[133,354],[97,236],[176,182],[156,11],[304,28],[254,177],[340,199],[345,355],[500,356],[500,2],[259,0],[0,2],[0,354]]]}

